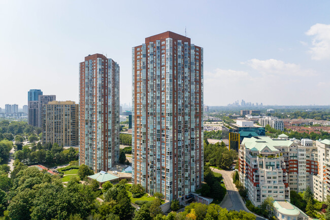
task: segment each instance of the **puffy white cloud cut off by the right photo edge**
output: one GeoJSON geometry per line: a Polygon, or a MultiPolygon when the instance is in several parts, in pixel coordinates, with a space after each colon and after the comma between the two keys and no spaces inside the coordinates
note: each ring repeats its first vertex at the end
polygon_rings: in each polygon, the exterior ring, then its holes
{"type": "Polygon", "coordinates": [[[314,24],[306,32],[306,35],[313,36],[309,52],[312,59],[321,60],[330,58],[330,24],[314,24]]]}

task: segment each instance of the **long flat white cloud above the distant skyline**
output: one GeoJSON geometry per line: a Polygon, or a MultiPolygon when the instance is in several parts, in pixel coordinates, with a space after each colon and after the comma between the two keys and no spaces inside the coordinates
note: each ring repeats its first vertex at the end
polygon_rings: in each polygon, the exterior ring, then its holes
{"type": "Polygon", "coordinates": [[[315,72],[313,70],[303,70],[300,65],[290,64],[282,60],[277,59],[250,59],[241,64],[247,64],[254,70],[269,75],[286,75],[286,76],[313,76],[315,72]]]}

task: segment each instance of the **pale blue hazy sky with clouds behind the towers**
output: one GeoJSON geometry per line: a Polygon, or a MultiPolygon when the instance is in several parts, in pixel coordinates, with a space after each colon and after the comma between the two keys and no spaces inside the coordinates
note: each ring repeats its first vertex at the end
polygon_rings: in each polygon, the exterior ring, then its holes
{"type": "Polygon", "coordinates": [[[204,104],[330,105],[330,1],[0,1],[0,107],[27,91],[79,101],[79,62],[120,66],[131,103],[131,48],[170,30],[204,48],[204,104]]]}

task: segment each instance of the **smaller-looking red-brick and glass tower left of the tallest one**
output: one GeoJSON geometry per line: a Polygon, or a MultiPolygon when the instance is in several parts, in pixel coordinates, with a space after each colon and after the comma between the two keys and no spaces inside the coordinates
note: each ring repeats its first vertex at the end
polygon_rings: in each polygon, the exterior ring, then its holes
{"type": "Polygon", "coordinates": [[[79,163],[108,171],[119,159],[119,65],[88,55],[79,79],[79,163]]]}

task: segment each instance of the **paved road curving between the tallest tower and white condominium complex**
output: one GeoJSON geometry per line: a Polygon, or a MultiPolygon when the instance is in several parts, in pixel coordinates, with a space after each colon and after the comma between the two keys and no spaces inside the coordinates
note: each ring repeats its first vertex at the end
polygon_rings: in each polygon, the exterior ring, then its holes
{"type": "MultiPolygon", "coordinates": [[[[220,203],[220,206],[228,210],[236,210],[236,211],[243,210],[252,213],[250,210],[246,208],[240,194],[238,193],[235,184],[233,183],[234,171],[218,170],[214,168],[211,168],[211,170],[216,173],[221,173],[223,177],[224,185],[226,186],[227,189],[227,194],[220,203]]],[[[265,220],[265,218],[256,216],[256,220],[265,220]]]]}

